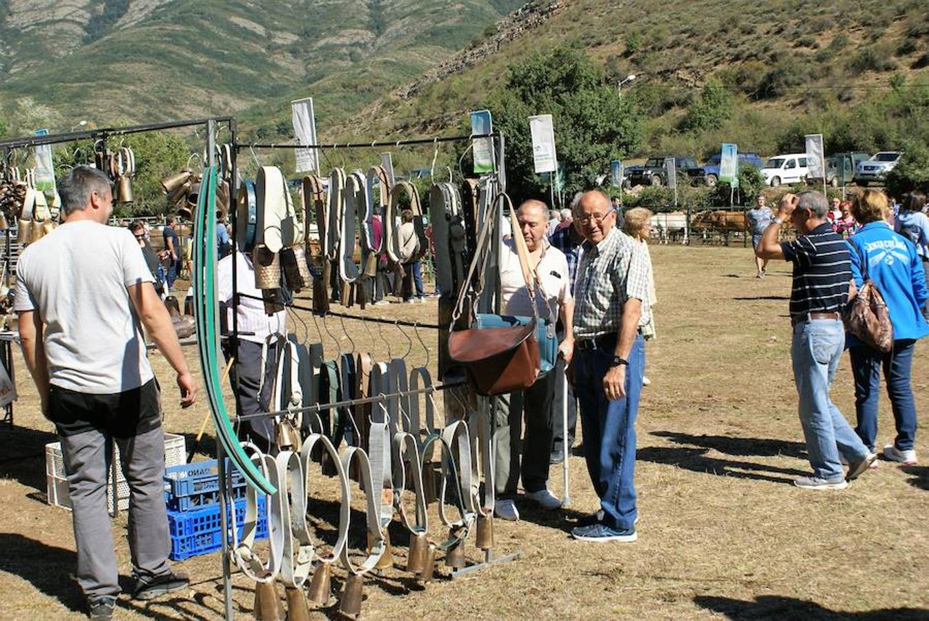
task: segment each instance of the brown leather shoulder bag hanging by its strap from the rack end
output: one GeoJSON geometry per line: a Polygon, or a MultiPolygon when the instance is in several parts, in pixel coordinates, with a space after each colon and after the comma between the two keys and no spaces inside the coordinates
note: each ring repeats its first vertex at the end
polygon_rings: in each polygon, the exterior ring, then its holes
{"type": "MultiPolygon", "coordinates": [[[[497,195],[491,204],[480,228],[478,245],[468,268],[468,275],[464,287],[458,294],[458,303],[455,305],[449,328],[449,356],[460,363],[467,370],[468,378],[474,384],[480,395],[503,395],[514,391],[525,390],[535,383],[539,375],[539,343],[535,338],[535,326],[539,321],[538,310],[533,304],[532,317],[528,325],[506,326],[504,328],[478,328],[468,330],[454,330],[454,325],[464,311],[465,300],[470,297],[472,304],[477,306],[483,278],[479,278],[478,287],[474,287],[474,275],[478,270],[487,267],[487,257],[491,248],[491,228],[497,222],[499,205],[506,202],[510,210],[513,203],[503,192],[497,195]]],[[[517,243],[523,241],[516,236],[517,243]]],[[[523,241],[525,243],[525,241],[523,241]]],[[[525,264],[522,252],[519,252],[520,264],[525,264]]],[[[530,273],[529,265],[523,266],[523,275],[530,273]]],[[[478,271],[478,274],[481,272],[478,271]]],[[[532,287],[530,280],[527,286],[532,287]]],[[[477,308],[473,309],[472,317],[477,317],[477,308]]]]}

